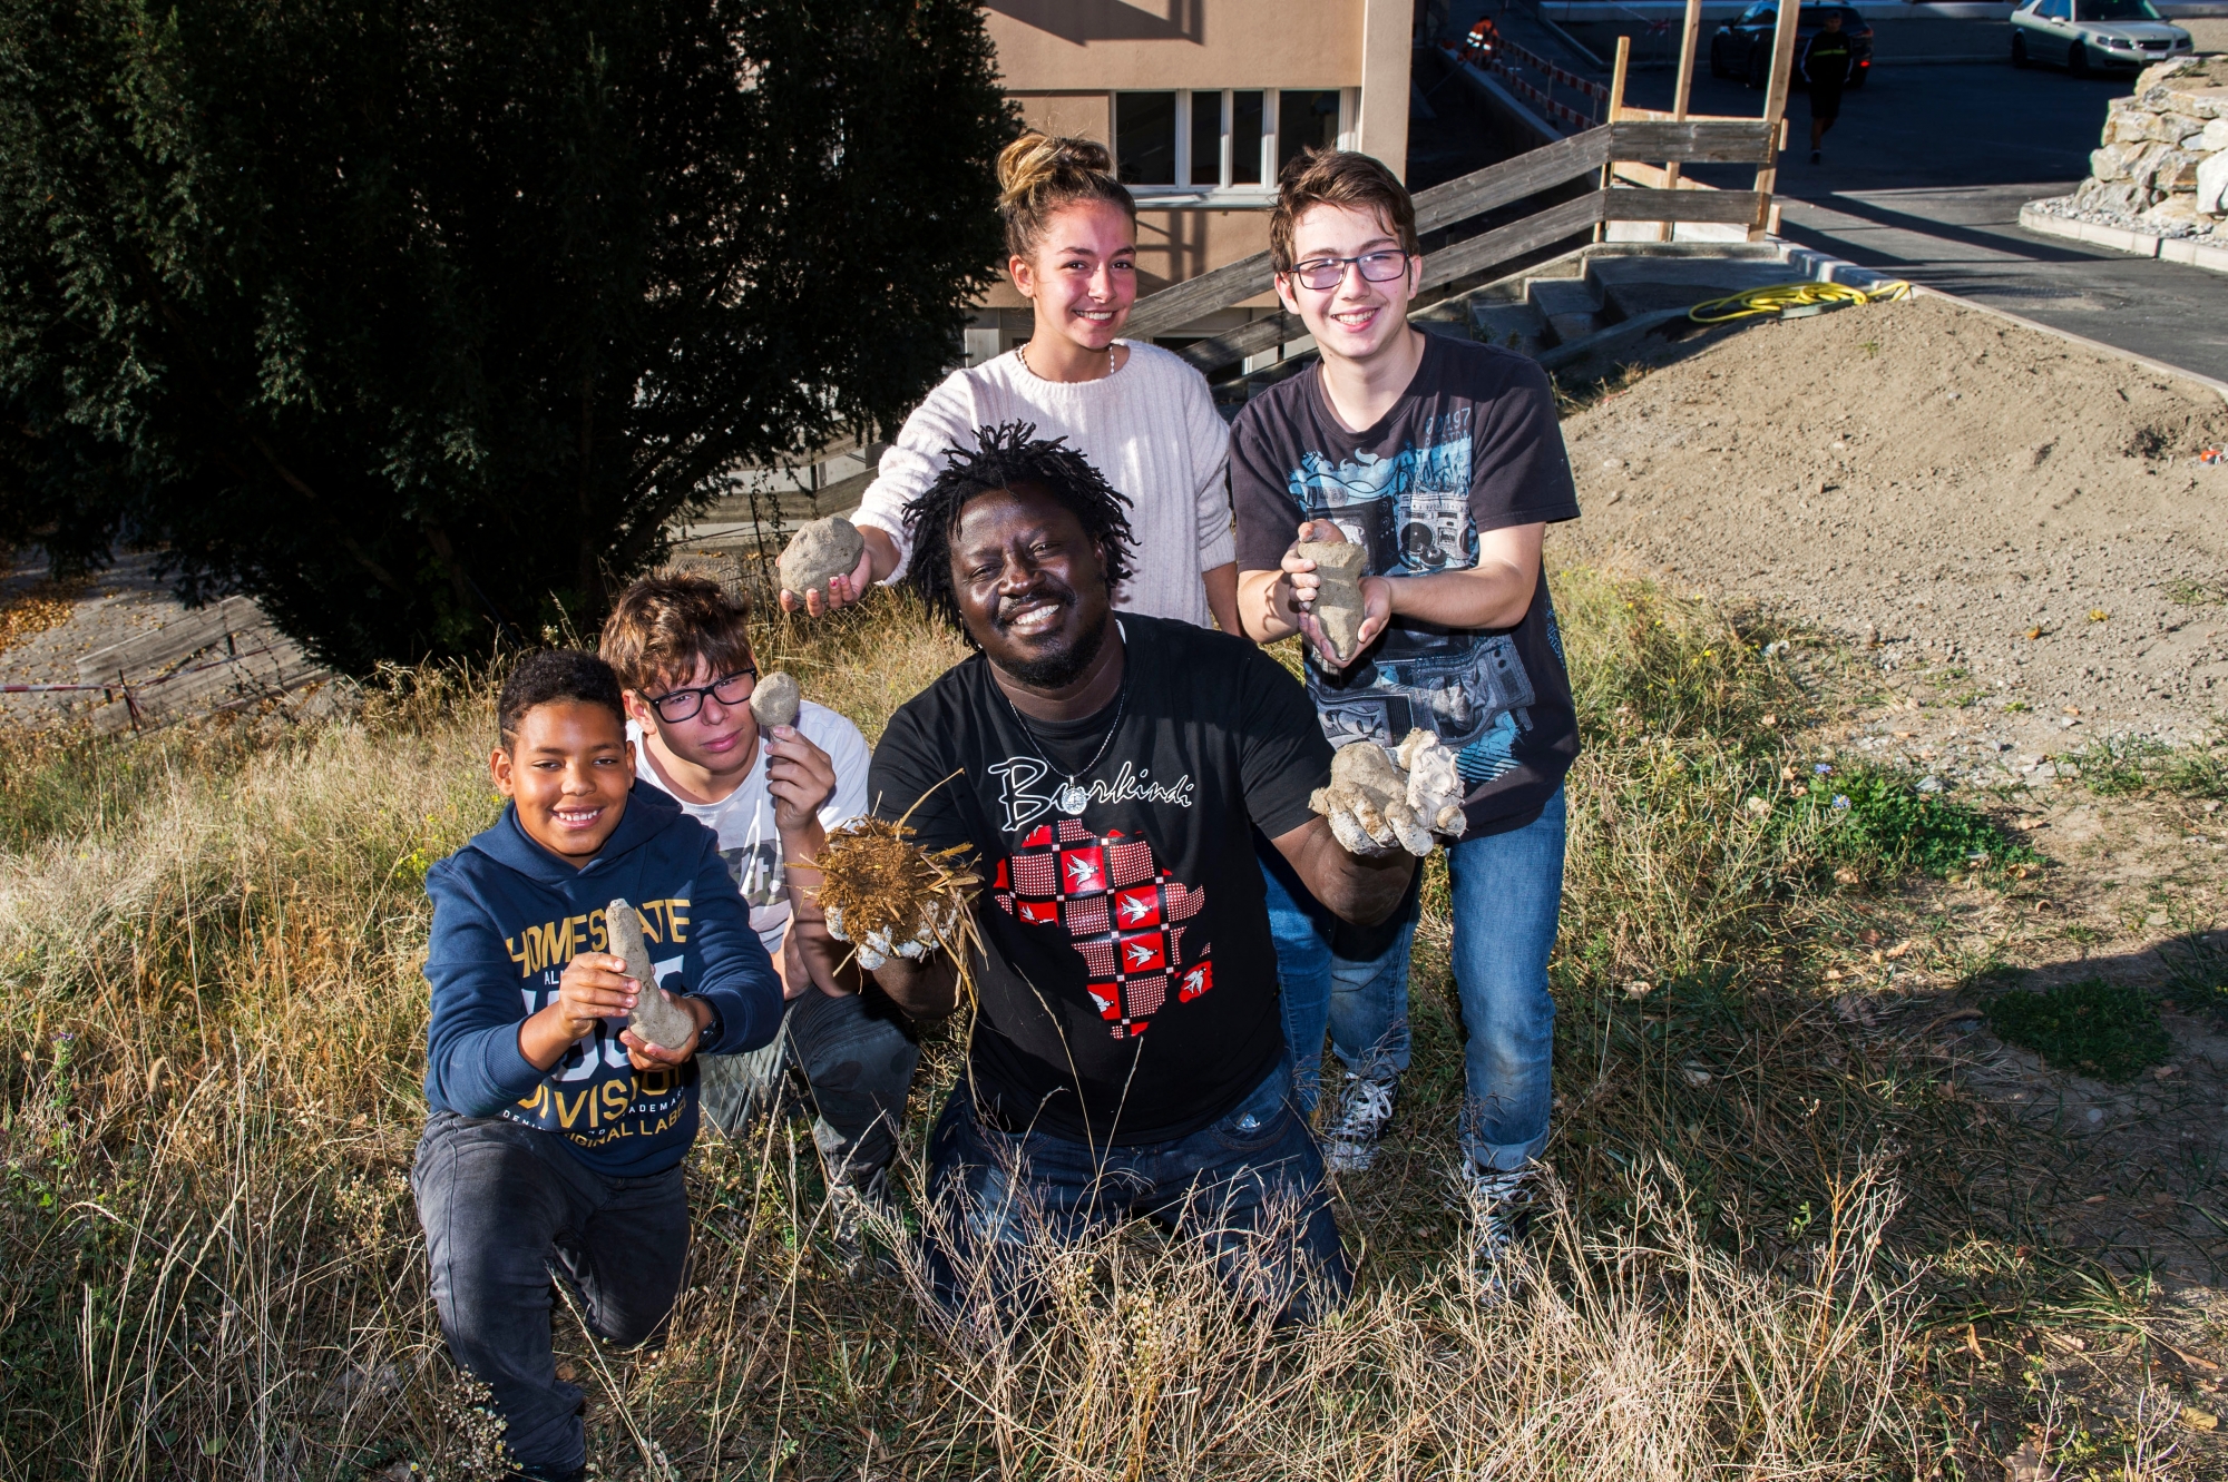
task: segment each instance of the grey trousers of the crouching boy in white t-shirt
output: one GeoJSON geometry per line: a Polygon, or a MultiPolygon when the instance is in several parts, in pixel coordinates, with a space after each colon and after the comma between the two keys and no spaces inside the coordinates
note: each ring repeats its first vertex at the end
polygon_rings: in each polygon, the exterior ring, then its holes
{"type": "Polygon", "coordinates": [[[789,1001],[782,1033],[749,1055],[697,1057],[704,1119],[737,1135],[802,1077],[813,1144],[831,1184],[864,1190],[898,1155],[905,1093],[920,1064],[913,1024],[878,986],[833,999],[807,988],[789,1001]]]}

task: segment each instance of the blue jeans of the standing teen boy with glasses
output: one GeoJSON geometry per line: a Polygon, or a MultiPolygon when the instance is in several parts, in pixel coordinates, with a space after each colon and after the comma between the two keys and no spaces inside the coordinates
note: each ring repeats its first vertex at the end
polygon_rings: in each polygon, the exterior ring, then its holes
{"type": "MultiPolygon", "coordinates": [[[[1446,850],[1462,999],[1462,1150],[1482,1168],[1522,1168],[1546,1146],[1553,1104],[1555,1001],[1546,959],[1562,919],[1562,788],[1524,828],[1446,850]]],[[[1339,921],[1308,895],[1274,848],[1261,850],[1277,937],[1283,1037],[1299,1099],[1315,1110],[1323,1033],[1348,1070],[1408,1068],[1408,948],[1419,888],[1379,928],[1339,921]]],[[[1417,870],[1421,879],[1421,870],[1417,870]]]]}

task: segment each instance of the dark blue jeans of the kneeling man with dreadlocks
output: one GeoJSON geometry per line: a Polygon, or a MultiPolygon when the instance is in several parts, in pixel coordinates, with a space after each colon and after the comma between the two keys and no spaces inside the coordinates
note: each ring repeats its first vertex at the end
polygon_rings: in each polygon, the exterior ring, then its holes
{"type": "Polygon", "coordinates": [[[1047,1255],[1139,1217],[1194,1242],[1232,1297],[1281,1322],[1352,1291],[1323,1155],[1286,1066],[1190,1137],[1096,1155],[1067,1137],[987,1126],[967,1079],[954,1086],[929,1137],[925,1219],[945,1311],[1032,1311],[1047,1255]]]}

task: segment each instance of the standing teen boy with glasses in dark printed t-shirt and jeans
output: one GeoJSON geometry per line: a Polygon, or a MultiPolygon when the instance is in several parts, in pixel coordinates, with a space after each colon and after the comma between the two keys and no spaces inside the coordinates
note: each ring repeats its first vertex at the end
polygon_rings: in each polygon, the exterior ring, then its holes
{"type": "MultiPolygon", "coordinates": [[[[1259,641],[1308,634],[1308,690],[1332,745],[1395,748],[1421,728],[1455,752],[1457,1175],[1491,1275],[1531,1197],[1553,1099],[1546,959],[1577,717],[1540,543],[1548,523],[1577,518],[1577,492],[1537,363],[1408,323],[1417,247],[1408,191],[1370,156],[1310,151],[1286,169],[1270,260],[1321,360],[1248,401],[1232,429],[1239,614],[1259,641]],[[1308,610],[1319,581],[1294,539],[1368,550],[1364,623],[1343,661],[1308,610]]],[[[1368,1168],[1408,1066],[1417,890],[1386,930],[1366,930],[1277,859],[1263,870],[1292,1055],[1317,1064],[1328,1024],[1346,1061],[1328,1162],[1368,1168]]]]}

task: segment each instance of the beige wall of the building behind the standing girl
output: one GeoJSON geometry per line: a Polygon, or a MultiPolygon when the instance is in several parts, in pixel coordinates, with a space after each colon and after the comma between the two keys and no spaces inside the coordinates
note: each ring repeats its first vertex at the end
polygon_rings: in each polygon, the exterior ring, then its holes
{"type": "MultiPolygon", "coordinates": [[[[1341,89],[1341,138],[1406,174],[1415,0],[985,0],[1023,120],[1114,145],[1123,89],[1341,89]]],[[[1268,247],[1272,187],[1141,191],[1139,292],[1268,247]]],[[[1000,283],[985,307],[1023,307],[1000,283]]],[[[1270,303],[1263,298],[1263,305],[1270,303]]]]}

